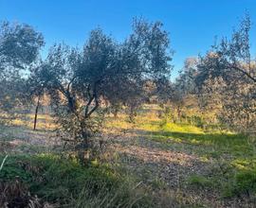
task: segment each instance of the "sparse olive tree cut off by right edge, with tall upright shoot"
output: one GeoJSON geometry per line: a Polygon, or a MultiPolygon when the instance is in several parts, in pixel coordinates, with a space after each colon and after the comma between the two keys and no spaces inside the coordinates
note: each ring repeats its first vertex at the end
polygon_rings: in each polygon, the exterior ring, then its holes
{"type": "Polygon", "coordinates": [[[255,128],[256,64],[249,43],[248,15],[234,30],[231,39],[215,44],[198,64],[196,85],[206,103],[215,104],[218,117],[231,129],[249,131],[255,128]]]}

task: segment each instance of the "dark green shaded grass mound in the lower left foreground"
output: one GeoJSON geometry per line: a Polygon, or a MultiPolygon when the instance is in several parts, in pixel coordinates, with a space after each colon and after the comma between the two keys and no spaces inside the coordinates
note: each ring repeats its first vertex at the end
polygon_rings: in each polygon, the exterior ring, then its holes
{"type": "Polygon", "coordinates": [[[135,190],[135,182],[124,180],[107,165],[85,168],[58,155],[10,156],[0,172],[0,182],[14,184],[17,180],[31,195],[60,207],[153,206],[145,190],[135,190]]]}

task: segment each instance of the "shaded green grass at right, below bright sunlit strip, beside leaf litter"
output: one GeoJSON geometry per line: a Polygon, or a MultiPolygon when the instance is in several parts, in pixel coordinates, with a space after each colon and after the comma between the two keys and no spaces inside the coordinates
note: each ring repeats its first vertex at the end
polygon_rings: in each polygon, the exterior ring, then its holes
{"type": "Polygon", "coordinates": [[[210,186],[221,190],[225,198],[245,194],[256,197],[256,146],[246,135],[166,129],[155,132],[155,135],[154,140],[157,142],[171,146],[172,142],[185,144],[185,148],[192,148],[193,154],[205,158],[205,162],[215,164],[215,168],[211,168],[206,176],[197,175],[188,179],[193,187],[210,186]]]}

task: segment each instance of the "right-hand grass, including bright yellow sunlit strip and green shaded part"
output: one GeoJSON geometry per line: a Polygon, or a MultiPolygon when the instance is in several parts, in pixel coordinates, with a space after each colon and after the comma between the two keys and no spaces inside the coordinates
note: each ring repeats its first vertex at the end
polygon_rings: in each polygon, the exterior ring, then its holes
{"type": "MultiPolygon", "coordinates": [[[[116,120],[115,126],[125,128],[123,122],[116,120]]],[[[253,138],[227,130],[207,132],[190,124],[165,122],[152,111],[137,117],[135,130],[143,138],[163,145],[164,149],[185,151],[209,166],[207,173],[186,179],[186,185],[192,189],[210,188],[219,193],[219,198],[247,195],[256,199],[256,143],[253,138]]]]}

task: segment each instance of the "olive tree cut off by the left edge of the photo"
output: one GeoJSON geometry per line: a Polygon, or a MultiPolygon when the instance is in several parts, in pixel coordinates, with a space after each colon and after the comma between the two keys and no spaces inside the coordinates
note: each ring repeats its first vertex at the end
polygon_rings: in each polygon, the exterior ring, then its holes
{"type": "Polygon", "coordinates": [[[25,75],[44,45],[41,33],[31,26],[4,22],[0,26],[0,110],[19,104],[25,75]]]}

